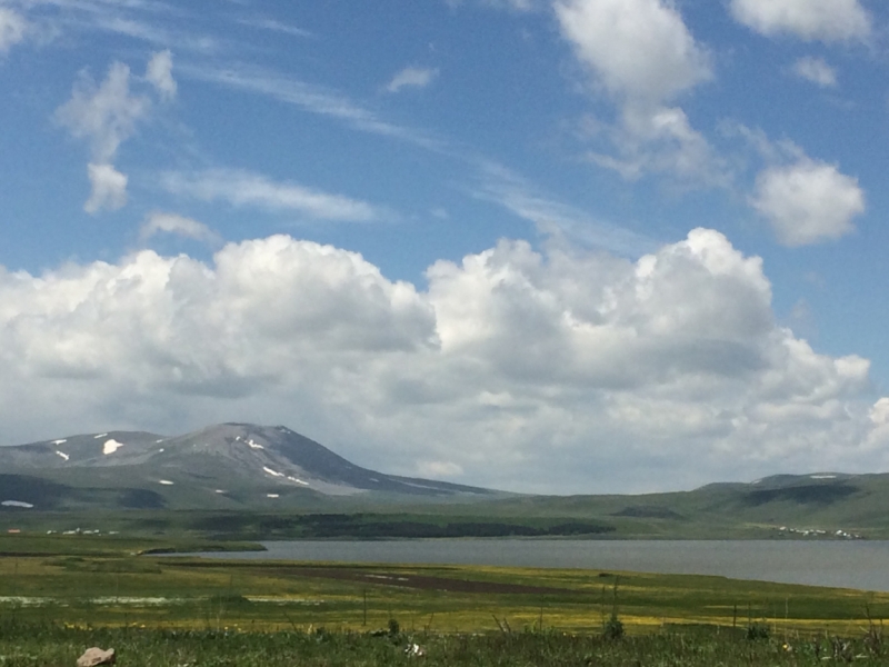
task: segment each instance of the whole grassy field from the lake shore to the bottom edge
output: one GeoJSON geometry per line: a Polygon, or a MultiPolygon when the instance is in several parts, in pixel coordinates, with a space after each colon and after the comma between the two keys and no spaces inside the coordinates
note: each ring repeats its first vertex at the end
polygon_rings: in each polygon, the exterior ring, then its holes
{"type": "Polygon", "coordinates": [[[137,555],[159,546],[183,545],[0,536],[0,667],[72,665],[93,645],[116,647],[120,664],[180,667],[398,665],[417,651],[429,665],[889,664],[889,594],[600,570],[137,555]],[[605,636],[612,618],[622,638],[605,636]]]}

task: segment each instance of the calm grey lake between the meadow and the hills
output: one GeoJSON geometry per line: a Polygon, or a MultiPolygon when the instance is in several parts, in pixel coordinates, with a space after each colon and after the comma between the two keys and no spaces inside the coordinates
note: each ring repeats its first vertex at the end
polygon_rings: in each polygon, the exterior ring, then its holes
{"type": "Polygon", "coordinates": [[[417,539],[262,542],[209,558],[589,568],[889,591],[889,541],[417,539]]]}

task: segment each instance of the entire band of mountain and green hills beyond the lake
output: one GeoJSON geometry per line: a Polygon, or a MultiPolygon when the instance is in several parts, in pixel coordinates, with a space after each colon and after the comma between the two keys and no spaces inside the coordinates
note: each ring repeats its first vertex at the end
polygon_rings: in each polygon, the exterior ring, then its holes
{"type": "Polygon", "coordinates": [[[101,510],[117,512],[114,520],[130,517],[118,524],[128,530],[169,531],[176,524],[251,539],[885,539],[887,507],[886,474],[776,475],[636,496],[520,496],[369,470],[283,426],[222,424],[176,437],[111,431],[0,447],[0,532],[28,516],[34,526],[58,527],[54,518],[40,524],[39,510],[64,510],[72,520],[101,510]]]}

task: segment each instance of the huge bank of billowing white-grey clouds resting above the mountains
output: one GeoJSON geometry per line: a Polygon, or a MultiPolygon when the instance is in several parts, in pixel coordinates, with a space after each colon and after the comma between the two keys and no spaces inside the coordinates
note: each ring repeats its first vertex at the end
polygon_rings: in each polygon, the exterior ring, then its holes
{"type": "Polygon", "coordinates": [[[284,236],[0,270],[6,437],[237,412],[387,471],[559,492],[886,462],[868,361],[776,323],[762,261],[719,232],[637,261],[503,240],[427,280],[284,236]]]}

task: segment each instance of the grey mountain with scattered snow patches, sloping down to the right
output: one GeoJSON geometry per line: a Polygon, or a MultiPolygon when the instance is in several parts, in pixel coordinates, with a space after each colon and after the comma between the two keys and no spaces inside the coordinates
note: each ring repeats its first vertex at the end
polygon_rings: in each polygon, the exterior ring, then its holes
{"type": "Polygon", "coordinates": [[[288,509],[332,498],[477,500],[502,494],[356,466],[283,427],[183,436],[110,431],[0,447],[0,508],[288,509]]]}

